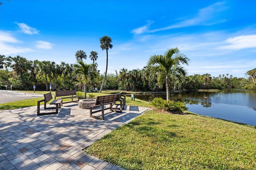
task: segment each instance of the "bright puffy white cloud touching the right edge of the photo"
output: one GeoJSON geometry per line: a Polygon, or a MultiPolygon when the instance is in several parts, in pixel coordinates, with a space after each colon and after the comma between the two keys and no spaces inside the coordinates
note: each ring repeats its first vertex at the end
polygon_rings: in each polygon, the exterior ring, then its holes
{"type": "Polygon", "coordinates": [[[230,45],[220,46],[218,47],[218,49],[240,50],[247,48],[256,48],[256,35],[241,35],[228,38],[226,40],[226,43],[230,45]]]}

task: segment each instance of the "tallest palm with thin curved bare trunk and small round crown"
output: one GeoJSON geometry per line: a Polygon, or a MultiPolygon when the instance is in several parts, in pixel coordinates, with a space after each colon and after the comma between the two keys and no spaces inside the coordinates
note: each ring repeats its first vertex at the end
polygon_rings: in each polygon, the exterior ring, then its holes
{"type": "Polygon", "coordinates": [[[105,79],[106,79],[106,76],[107,76],[107,70],[108,70],[108,49],[110,48],[110,49],[112,49],[112,47],[113,47],[113,45],[112,44],[110,44],[110,43],[112,43],[112,39],[110,38],[110,37],[108,37],[108,36],[103,36],[103,37],[101,37],[101,39],[100,39],[100,48],[102,49],[102,50],[106,50],[106,54],[107,54],[107,62],[106,62],[106,71],[105,71],[105,75],[104,75],[104,78],[103,78],[103,81],[102,81],[102,84],[101,84],[101,87],[100,87],[100,93],[101,93],[101,91],[102,91],[102,89],[103,89],[103,85],[104,85],[104,81],[105,81],[105,79]]]}

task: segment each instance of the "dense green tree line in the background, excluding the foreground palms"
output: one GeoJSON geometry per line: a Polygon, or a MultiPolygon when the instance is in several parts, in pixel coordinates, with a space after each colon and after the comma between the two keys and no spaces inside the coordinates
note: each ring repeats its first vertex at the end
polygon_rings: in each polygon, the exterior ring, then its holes
{"type": "MultiPolygon", "coordinates": [[[[95,62],[95,57],[91,57],[92,61],[93,59],[95,62]]],[[[92,87],[99,89],[104,74],[100,74],[99,70],[97,70],[97,63],[87,65],[86,77],[83,76],[83,73],[79,73],[79,64],[77,64],[65,62],[56,64],[54,61],[29,61],[19,55],[16,57],[0,55],[0,89],[5,89],[5,85],[8,85],[8,89],[12,85],[12,88],[15,90],[33,90],[33,85],[36,85],[36,90],[47,91],[49,91],[49,85],[52,85],[52,90],[76,89],[84,91],[86,86],[88,89],[92,87]],[[84,86],[85,80],[86,86],[84,86]]],[[[134,69],[128,71],[126,68],[122,68],[119,72],[108,73],[104,81],[104,89],[165,91],[166,82],[159,82],[159,72],[149,72],[149,70],[152,70],[150,64],[141,70],[134,69]]],[[[194,74],[189,76],[170,74],[168,84],[170,90],[256,89],[255,70],[256,68],[246,73],[249,78],[236,78],[228,74],[222,74],[218,77],[212,77],[210,74],[194,74]]]]}

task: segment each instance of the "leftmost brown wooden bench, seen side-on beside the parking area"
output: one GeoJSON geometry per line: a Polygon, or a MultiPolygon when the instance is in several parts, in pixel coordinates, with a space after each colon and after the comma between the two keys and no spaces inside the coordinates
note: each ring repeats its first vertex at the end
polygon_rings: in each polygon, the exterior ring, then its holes
{"type": "Polygon", "coordinates": [[[44,100],[39,100],[37,102],[37,115],[52,115],[52,114],[58,114],[58,109],[60,106],[62,106],[62,99],[53,100],[50,104],[56,105],[56,112],[50,112],[50,113],[40,113],[40,103],[44,102],[44,109],[54,109],[55,107],[46,107],[46,103],[52,100],[52,93],[46,93],[44,94],[44,100]]]}

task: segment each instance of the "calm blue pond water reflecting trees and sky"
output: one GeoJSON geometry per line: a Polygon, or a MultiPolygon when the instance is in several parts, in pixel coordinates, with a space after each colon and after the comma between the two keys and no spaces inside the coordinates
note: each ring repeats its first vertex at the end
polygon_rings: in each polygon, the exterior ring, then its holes
{"type": "MultiPolygon", "coordinates": [[[[150,101],[165,94],[137,95],[135,99],[150,101]]],[[[171,100],[186,103],[188,111],[256,126],[256,90],[225,89],[221,92],[183,92],[170,94],[171,100]]]]}

